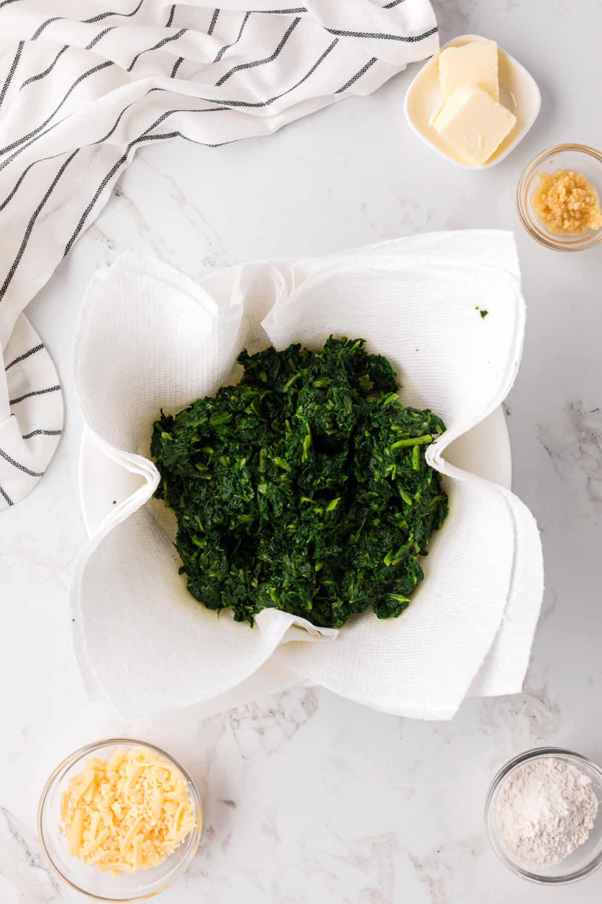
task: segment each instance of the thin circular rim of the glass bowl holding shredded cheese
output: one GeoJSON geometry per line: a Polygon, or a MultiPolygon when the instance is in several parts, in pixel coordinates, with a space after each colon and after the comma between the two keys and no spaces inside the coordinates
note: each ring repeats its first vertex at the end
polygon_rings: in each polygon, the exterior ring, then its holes
{"type": "Polygon", "coordinates": [[[42,851],[46,857],[46,860],[50,863],[52,870],[60,877],[60,879],[65,882],[70,889],[74,891],[78,891],[79,894],[85,895],[85,897],[102,901],[104,904],[134,904],[135,901],[145,901],[150,898],[154,898],[155,895],[158,895],[161,891],[169,888],[171,882],[178,878],[181,875],[181,872],[188,869],[190,866],[190,862],[192,862],[197,849],[199,848],[200,842],[200,832],[202,826],[202,802],[200,799],[199,792],[197,790],[197,786],[193,782],[192,778],[187,769],[185,769],[181,763],[166,749],[159,747],[157,744],[151,743],[151,741],[140,740],[137,738],[107,738],[103,740],[92,741],[89,744],[85,744],[83,747],[79,747],[77,750],[74,750],[73,753],[70,753],[68,757],[65,757],[59,765],[54,768],[51,772],[51,775],[46,780],[45,785],[42,788],[42,794],[40,795],[40,801],[38,804],[38,816],[37,816],[37,828],[38,828],[38,837],[40,839],[40,843],[42,845],[42,851]],[[67,876],[60,870],[60,867],[57,863],[54,862],[51,857],[51,853],[48,850],[46,845],[46,840],[44,838],[44,831],[42,827],[42,816],[44,814],[44,806],[46,805],[46,799],[49,795],[51,787],[53,786],[57,777],[59,777],[62,770],[66,767],[69,767],[73,763],[76,763],[79,759],[82,759],[88,754],[93,753],[98,748],[107,747],[109,744],[117,744],[117,745],[130,745],[131,747],[147,747],[151,750],[154,750],[155,753],[159,753],[162,757],[165,757],[173,763],[173,765],[180,769],[182,776],[186,780],[190,790],[190,796],[193,799],[194,805],[197,809],[197,825],[195,826],[194,833],[191,833],[191,841],[192,843],[189,846],[189,850],[185,852],[185,855],[179,864],[179,868],[175,871],[174,875],[171,876],[171,879],[166,881],[161,888],[147,892],[143,895],[134,895],[132,898],[123,898],[123,899],[115,899],[115,898],[105,898],[103,895],[97,895],[92,891],[87,891],[85,889],[79,888],[79,885],[76,885],[75,882],[68,879],[67,876]],[[183,869],[182,869],[183,867],[183,869]]]}

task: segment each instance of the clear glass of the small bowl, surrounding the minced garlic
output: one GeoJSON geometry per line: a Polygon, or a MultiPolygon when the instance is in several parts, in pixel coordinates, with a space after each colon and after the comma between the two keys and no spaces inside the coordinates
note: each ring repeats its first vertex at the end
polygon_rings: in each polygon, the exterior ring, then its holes
{"type": "Polygon", "coordinates": [[[555,251],[583,251],[602,241],[602,228],[588,230],[582,235],[555,235],[547,231],[533,209],[533,191],[539,184],[539,173],[554,173],[557,169],[582,173],[602,199],[602,153],[587,145],[556,145],[542,151],[527,165],[516,190],[518,215],[525,230],[540,244],[555,251]]]}

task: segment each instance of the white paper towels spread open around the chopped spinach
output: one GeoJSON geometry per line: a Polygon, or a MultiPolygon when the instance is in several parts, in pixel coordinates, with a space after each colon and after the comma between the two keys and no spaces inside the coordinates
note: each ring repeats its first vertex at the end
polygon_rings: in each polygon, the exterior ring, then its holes
{"type": "Polygon", "coordinates": [[[450,718],[469,690],[518,692],[542,600],[539,533],[514,494],[449,465],[445,450],[505,398],[523,327],[507,232],[434,233],[247,264],[199,284],[129,254],[99,271],[75,342],[79,397],[88,427],[144,485],[109,514],[79,569],[76,651],[88,683],[126,714],[220,694],[232,706],[236,685],[268,660],[357,702],[421,718],[450,718]],[[217,391],[243,347],[319,346],[331,333],[365,338],[394,364],[403,401],[447,424],[428,450],[446,477],[449,518],[424,560],[426,579],[402,617],[366,612],[338,632],[273,609],[253,629],[229,612],[218,619],[178,576],[164,506],[144,504],[159,481],[147,457],[153,419],[217,391]]]}

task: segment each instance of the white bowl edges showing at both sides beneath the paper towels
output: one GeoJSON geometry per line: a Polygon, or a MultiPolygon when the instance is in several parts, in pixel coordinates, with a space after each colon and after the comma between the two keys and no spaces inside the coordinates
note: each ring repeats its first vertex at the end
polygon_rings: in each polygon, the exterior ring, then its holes
{"type": "MultiPolygon", "coordinates": [[[[452,443],[446,458],[464,471],[509,489],[512,458],[503,410],[498,408],[452,443]]],[[[89,537],[97,532],[114,505],[124,502],[143,484],[143,476],[126,471],[107,457],[94,433],[84,428],[79,449],[79,498],[89,537]]]]}

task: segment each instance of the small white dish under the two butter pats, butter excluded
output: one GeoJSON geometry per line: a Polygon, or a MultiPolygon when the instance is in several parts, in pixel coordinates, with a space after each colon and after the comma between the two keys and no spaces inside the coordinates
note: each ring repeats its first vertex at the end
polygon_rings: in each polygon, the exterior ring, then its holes
{"type": "MultiPolygon", "coordinates": [[[[475,41],[486,41],[486,38],[478,34],[461,34],[441,47],[441,50],[445,50],[446,47],[461,47],[475,41]]],[[[462,169],[485,170],[501,163],[523,140],[533,126],[542,106],[540,89],[533,76],[501,47],[497,48],[497,65],[500,102],[514,113],[517,121],[510,135],[505,137],[495,154],[482,166],[469,166],[454,159],[449,146],[440,137],[439,132],[431,126],[431,117],[441,106],[439,55],[431,57],[431,60],[422,67],[405,95],[403,110],[412,130],[433,151],[462,169]]]]}

